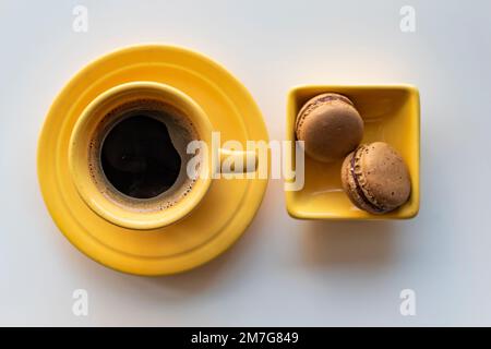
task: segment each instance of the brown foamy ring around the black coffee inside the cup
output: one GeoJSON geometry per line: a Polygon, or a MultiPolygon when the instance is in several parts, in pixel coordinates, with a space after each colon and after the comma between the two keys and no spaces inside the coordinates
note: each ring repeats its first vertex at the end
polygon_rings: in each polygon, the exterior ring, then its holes
{"type": "Polygon", "coordinates": [[[111,109],[96,127],[88,148],[88,170],[99,192],[121,208],[137,213],[155,213],[168,209],[193,190],[196,182],[187,173],[187,165],[194,156],[187,154],[189,142],[199,140],[192,121],[173,106],[157,99],[141,98],[111,109]],[[145,115],[165,123],[170,141],[181,157],[181,168],[176,182],[166,191],[151,198],[136,198],[118,191],[106,178],[100,163],[100,153],[106,135],[120,121],[135,115],[145,115]]]}

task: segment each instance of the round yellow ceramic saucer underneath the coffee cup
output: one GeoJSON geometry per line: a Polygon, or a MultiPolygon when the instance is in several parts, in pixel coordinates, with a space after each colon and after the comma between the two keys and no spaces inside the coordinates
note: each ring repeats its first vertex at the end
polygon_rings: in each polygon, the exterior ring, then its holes
{"type": "Polygon", "coordinates": [[[208,58],[170,46],[143,45],[109,53],[79,72],[61,91],[38,143],[37,170],[44,200],[64,236],[91,258],[137,275],[183,272],[229,248],[254,217],[266,179],[215,179],[182,220],[154,230],[109,224],[79,196],[69,173],[69,140],[82,110],[96,96],[132,81],[160,82],[193,98],[209,116],[221,142],[268,141],[254,100],[244,86],[208,58]]]}

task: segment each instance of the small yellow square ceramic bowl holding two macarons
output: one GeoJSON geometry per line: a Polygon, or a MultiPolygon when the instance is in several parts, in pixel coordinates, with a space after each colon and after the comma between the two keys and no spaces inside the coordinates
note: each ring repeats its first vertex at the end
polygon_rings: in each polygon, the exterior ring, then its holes
{"type": "MultiPolygon", "coordinates": [[[[300,219],[407,219],[419,210],[419,92],[409,85],[310,85],[292,88],[287,100],[287,140],[296,141],[295,120],[310,98],[338,93],[352,100],[364,122],[362,143],[382,141],[396,148],[411,178],[409,201],[391,213],[373,215],[357,208],[343,191],[344,159],[323,164],[304,157],[304,185],[286,191],[288,214],[300,219]]],[[[294,142],[292,142],[294,144],[294,142]]],[[[291,152],[291,164],[296,164],[291,152]]],[[[292,179],[291,181],[295,181],[292,179]]]]}

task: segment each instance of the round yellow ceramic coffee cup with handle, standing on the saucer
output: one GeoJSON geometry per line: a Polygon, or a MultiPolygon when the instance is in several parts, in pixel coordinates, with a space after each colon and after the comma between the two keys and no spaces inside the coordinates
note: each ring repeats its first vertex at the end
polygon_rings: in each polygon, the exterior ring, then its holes
{"type": "MultiPolygon", "coordinates": [[[[156,82],[124,83],[97,96],[77,119],[70,139],[70,174],[85,204],[107,221],[129,229],[165,227],[189,215],[206,195],[213,171],[217,170],[213,156],[206,154],[206,149],[212,149],[212,132],[216,131],[219,130],[213,129],[206,112],[183,92],[156,82]],[[176,182],[168,190],[144,198],[118,190],[108,179],[101,161],[108,134],[123,120],[141,113],[167,127],[181,157],[176,182]],[[201,142],[207,147],[189,154],[191,142],[201,142]]],[[[145,135],[140,137],[144,140],[145,135]]],[[[121,142],[124,144],[124,140],[121,142]]],[[[253,152],[219,148],[217,154],[219,164],[230,156],[258,163],[253,152]]],[[[242,168],[243,171],[255,170],[255,166],[249,164],[242,168]]]]}

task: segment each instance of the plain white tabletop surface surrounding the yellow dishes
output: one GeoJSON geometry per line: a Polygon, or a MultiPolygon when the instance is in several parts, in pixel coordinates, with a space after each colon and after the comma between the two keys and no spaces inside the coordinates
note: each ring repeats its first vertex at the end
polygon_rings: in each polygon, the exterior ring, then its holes
{"type": "Polygon", "coordinates": [[[491,325],[489,1],[0,1],[0,325],[491,325]],[[88,9],[88,33],[72,9],[88,9]],[[399,9],[416,9],[402,33],[399,9]],[[284,139],[297,84],[411,83],[421,93],[421,210],[394,222],[289,218],[270,182],[252,226],[193,272],[144,278],[85,257],[41,200],[46,112],[86,63],[177,44],[223,63],[284,139]],[[72,314],[72,291],[89,314],[72,314]],[[399,292],[417,315],[399,314],[399,292]]]}

